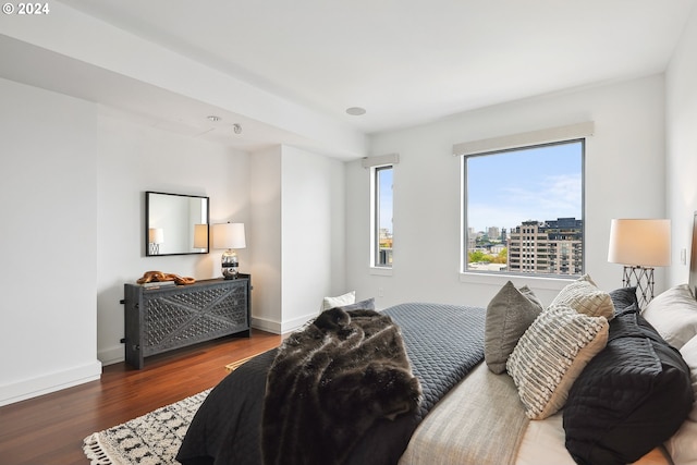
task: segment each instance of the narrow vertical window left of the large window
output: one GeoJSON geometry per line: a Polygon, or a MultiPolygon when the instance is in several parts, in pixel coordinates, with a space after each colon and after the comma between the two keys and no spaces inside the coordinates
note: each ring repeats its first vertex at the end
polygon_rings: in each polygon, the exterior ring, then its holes
{"type": "Polygon", "coordinates": [[[372,266],[392,267],[392,174],[391,164],[372,169],[372,266]]]}

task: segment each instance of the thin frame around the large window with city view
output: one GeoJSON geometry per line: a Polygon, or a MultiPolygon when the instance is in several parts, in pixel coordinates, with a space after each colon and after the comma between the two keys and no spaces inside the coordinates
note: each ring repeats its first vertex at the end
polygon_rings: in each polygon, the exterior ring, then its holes
{"type": "MultiPolygon", "coordinates": [[[[488,151],[481,151],[481,152],[470,152],[470,154],[465,154],[465,155],[461,155],[461,173],[462,173],[462,207],[461,207],[461,223],[462,223],[462,232],[461,232],[461,267],[460,267],[460,272],[462,276],[494,276],[494,277],[501,277],[501,278],[505,278],[505,277],[516,277],[516,278],[533,278],[533,279],[552,279],[552,280],[573,280],[573,279],[577,279],[579,276],[583,276],[583,273],[585,272],[586,269],[586,221],[585,221],[585,217],[586,217],[586,146],[587,146],[587,136],[575,136],[575,137],[568,137],[568,138],[562,138],[562,139],[557,139],[557,140],[552,140],[552,142],[540,142],[540,143],[526,143],[519,146],[514,146],[514,147],[505,147],[505,148],[501,148],[501,149],[492,149],[492,150],[488,150],[488,151]],[[475,270],[475,269],[469,269],[467,267],[468,265],[468,254],[469,254],[469,248],[468,248],[468,243],[469,243],[469,225],[468,225],[468,213],[467,213],[467,209],[468,209],[468,198],[467,198],[467,180],[468,180],[468,173],[467,173],[467,160],[470,158],[476,158],[476,157],[489,157],[489,156],[496,156],[496,155],[502,155],[502,154],[510,154],[510,152],[514,152],[514,151],[523,151],[523,150],[530,150],[530,149],[536,149],[536,148],[542,148],[542,147],[550,147],[550,146],[559,146],[559,145],[566,145],[566,144],[576,144],[579,143],[580,144],[580,235],[582,235],[582,253],[580,253],[580,273],[579,274],[574,274],[574,273],[568,273],[568,274],[558,274],[558,273],[541,273],[541,272],[518,272],[518,271],[511,271],[510,267],[506,266],[506,270],[505,271],[492,271],[492,270],[475,270]]],[[[558,218],[559,219],[559,218],[558,218]]],[[[547,221],[547,220],[552,220],[552,219],[538,219],[537,221],[547,221]]],[[[523,228],[523,222],[521,224],[518,224],[518,227],[523,228]]],[[[508,235],[510,237],[511,231],[508,231],[508,235]]],[[[506,259],[506,264],[510,261],[510,254],[511,254],[511,249],[510,249],[510,243],[506,243],[506,249],[508,249],[508,259],[506,259]]]]}

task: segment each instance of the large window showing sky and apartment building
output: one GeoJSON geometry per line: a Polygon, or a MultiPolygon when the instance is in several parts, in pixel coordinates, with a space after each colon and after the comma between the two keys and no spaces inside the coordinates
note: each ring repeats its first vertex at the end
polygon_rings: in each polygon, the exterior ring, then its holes
{"type": "Polygon", "coordinates": [[[464,271],[584,272],[585,139],[465,155],[464,271]]]}

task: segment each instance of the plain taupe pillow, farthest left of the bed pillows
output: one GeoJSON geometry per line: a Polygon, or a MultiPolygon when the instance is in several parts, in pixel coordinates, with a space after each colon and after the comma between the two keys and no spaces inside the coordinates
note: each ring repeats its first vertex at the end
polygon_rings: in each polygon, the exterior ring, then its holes
{"type": "Polygon", "coordinates": [[[484,340],[484,358],[492,372],[505,371],[509,355],[540,311],[542,304],[533,291],[517,290],[511,281],[493,296],[487,306],[484,340]]]}

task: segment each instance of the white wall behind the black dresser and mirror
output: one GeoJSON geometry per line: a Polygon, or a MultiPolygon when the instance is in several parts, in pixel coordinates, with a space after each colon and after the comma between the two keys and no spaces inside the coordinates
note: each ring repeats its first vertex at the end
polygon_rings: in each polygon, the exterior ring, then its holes
{"type": "MultiPolygon", "coordinates": [[[[249,229],[249,155],[133,122],[100,109],[98,180],[98,347],[105,363],[123,359],[123,284],[158,270],[197,280],[220,277],[220,255],[146,257],[145,191],[210,197],[210,222],[249,229]]],[[[250,271],[254,237],[236,250],[250,271]]]]}

